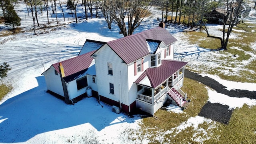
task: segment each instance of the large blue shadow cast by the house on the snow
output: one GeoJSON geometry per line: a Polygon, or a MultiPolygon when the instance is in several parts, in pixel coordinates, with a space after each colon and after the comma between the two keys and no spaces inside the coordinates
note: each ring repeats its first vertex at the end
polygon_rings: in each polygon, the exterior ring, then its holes
{"type": "Polygon", "coordinates": [[[36,79],[39,86],[0,105],[0,143],[26,142],[37,134],[86,123],[100,131],[122,122],[133,123],[138,118],[116,114],[103,103],[102,108],[93,97],[67,105],[46,92],[44,76],[36,79]]]}

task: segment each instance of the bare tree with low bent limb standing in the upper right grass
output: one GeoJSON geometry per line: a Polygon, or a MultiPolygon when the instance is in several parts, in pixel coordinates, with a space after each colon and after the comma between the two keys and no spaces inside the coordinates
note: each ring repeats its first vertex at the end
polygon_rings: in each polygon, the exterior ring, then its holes
{"type": "Polygon", "coordinates": [[[223,18],[223,29],[222,29],[222,38],[218,37],[218,36],[211,36],[207,30],[207,27],[204,24],[204,27],[202,27],[206,33],[207,33],[207,37],[210,38],[216,38],[219,39],[221,42],[221,48],[226,50],[227,49],[227,45],[228,45],[228,39],[229,36],[232,32],[232,28],[234,27],[234,25],[237,24],[238,22],[238,16],[240,16],[242,10],[241,10],[241,6],[242,6],[243,0],[230,0],[230,1],[226,1],[226,14],[227,14],[227,18],[223,18]],[[226,24],[228,24],[228,28],[226,30],[226,24]]]}

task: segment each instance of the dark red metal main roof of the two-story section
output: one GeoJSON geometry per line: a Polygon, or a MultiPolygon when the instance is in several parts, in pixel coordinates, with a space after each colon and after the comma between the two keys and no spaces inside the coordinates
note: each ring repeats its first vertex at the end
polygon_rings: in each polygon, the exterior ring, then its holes
{"type": "Polygon", "coordinates": [[[150,54],[146,39],[162,41],[166,45],[177,41],[167,30],[157,27],[107,42],[107,44],[126,64],[130,64],[150,54]]]}

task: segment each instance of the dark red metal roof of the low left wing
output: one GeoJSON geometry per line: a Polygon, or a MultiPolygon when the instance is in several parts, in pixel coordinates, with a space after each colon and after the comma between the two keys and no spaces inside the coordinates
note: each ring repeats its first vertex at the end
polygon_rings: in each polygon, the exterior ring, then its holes
{"type": "MultiPolygon", "coordinates": [[[[77,72],[80,72],[82,70],[85,70],[86,68],[89,68],[93,60],[91,55],[95,51],[96,50],[62,61],[61,63],[62,63],[62,66],[64,67],[65,77],[75,74],[77,72]]],[[[60,62],[56,64],[52,64],[52,66],[60,74],[60,71],[59,71],[60,62]]]]}

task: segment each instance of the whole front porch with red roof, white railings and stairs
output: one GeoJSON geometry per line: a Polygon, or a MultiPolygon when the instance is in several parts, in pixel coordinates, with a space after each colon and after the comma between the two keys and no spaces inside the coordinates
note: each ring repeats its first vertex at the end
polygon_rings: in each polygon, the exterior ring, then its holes
{"type": "Polygon", "coordinates": [[[168,98],[173,104],[182,106],[186,94],[183,86],[187,62],[162,60],[156,68],[147,68],[134,82],[137,85],[136,107],[152,115],[163,106],[168,98]]]}

